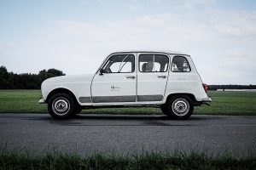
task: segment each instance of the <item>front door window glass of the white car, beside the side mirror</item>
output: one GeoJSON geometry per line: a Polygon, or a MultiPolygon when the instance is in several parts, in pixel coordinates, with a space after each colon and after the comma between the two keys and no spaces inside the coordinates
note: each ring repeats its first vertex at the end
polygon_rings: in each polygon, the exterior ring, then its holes
{"type": "Polygon", "coordinates": [[[111,56],[103,66],[103,73],[121,73],[134,71],[133,54],[117,54],[111,56]]]}

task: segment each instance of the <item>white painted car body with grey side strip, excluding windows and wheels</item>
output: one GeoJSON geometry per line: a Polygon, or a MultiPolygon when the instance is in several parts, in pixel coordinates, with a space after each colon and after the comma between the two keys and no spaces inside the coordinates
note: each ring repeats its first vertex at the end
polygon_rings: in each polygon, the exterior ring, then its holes
{"type": "MultiPolygon", "coordinates": [[[[101,66],[96,74],[49,78],[42,83],[43,100],[40,103],[47,102],[49,94],[59,88],[69,90],[79,105],[84,106],[162,105],[171,94],[192,94],[198,102],[211,101],[192,59],[187,54],[160,51],[125,51],[113,54],[134,54],[135,71],[101,75],[101,66]],[[140,72],[139,54],[165,54],[169,58],[167,71],[140,72]],[[182,55],[188,60],[189,72],[172,72],[172,58],[176,55],[182,55]]],[[[102,65],[113,54],[108,55],[102,65]]]]}

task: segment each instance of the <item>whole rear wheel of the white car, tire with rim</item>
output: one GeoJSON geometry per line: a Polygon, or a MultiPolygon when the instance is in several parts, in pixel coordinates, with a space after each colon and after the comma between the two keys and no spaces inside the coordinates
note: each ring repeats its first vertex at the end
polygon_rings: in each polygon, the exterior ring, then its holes
{"type": "Polygon", "coordinates": [[[188,119],[193,111],[194,105],[192,99],[187,95],[175,95],[162,106],[161,110],[167,115],[177,120],[188,119]]]}

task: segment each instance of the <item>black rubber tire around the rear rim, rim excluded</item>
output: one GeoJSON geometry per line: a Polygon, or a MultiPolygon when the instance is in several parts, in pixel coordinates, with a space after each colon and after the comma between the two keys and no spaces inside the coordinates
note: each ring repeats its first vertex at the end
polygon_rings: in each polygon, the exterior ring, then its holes
{"type": "Polygon", "coordinates": [[[189,98],[189,96],[187,95],[183,95],[183,94],[177,94],[175,96],[173,96],[171,99],[169,99],[166,102],[166,115],[172,117],[173,119],[177,119],[177,120],[184,120],[184,119],[188,119],[193,111],[194,111],[194,105],[192,102],[192,99],[189,98]],[[186,99],[189,103],[189,111],[186,115],[184,116],[177,116],[173,111],[172,111],[172,103],[176,100],[176,99],[186,99]]]}

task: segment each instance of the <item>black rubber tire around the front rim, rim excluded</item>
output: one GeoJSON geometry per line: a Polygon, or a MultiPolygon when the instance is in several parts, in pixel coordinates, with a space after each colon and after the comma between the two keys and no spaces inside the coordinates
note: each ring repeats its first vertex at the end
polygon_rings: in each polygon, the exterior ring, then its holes
{"type": "Polygon", "coordinates": [[[54,118],[57,118],[57,119],[66,119],[66,118],[69,118],[69,117],[72,117],[75,115],[75,110],[76,110],[76,107],[75,107],[75,103],[74,103],[74,100],[72,97],[70,97],[70,95],[68,94],[55,94],[53,95],[50,99],[49,99],[49,102],[48,102],[48,111],[49,111],[49,115],[50,116],[53,116],[54,118]],[[54,102],[55,99],[57,98],[65,98],[68,100],[69,102],[69,111],[65,114],[65,115],[57,115],[55,114],[55,111],[53,111],[52,109],[52,103],[54,102]]]}

